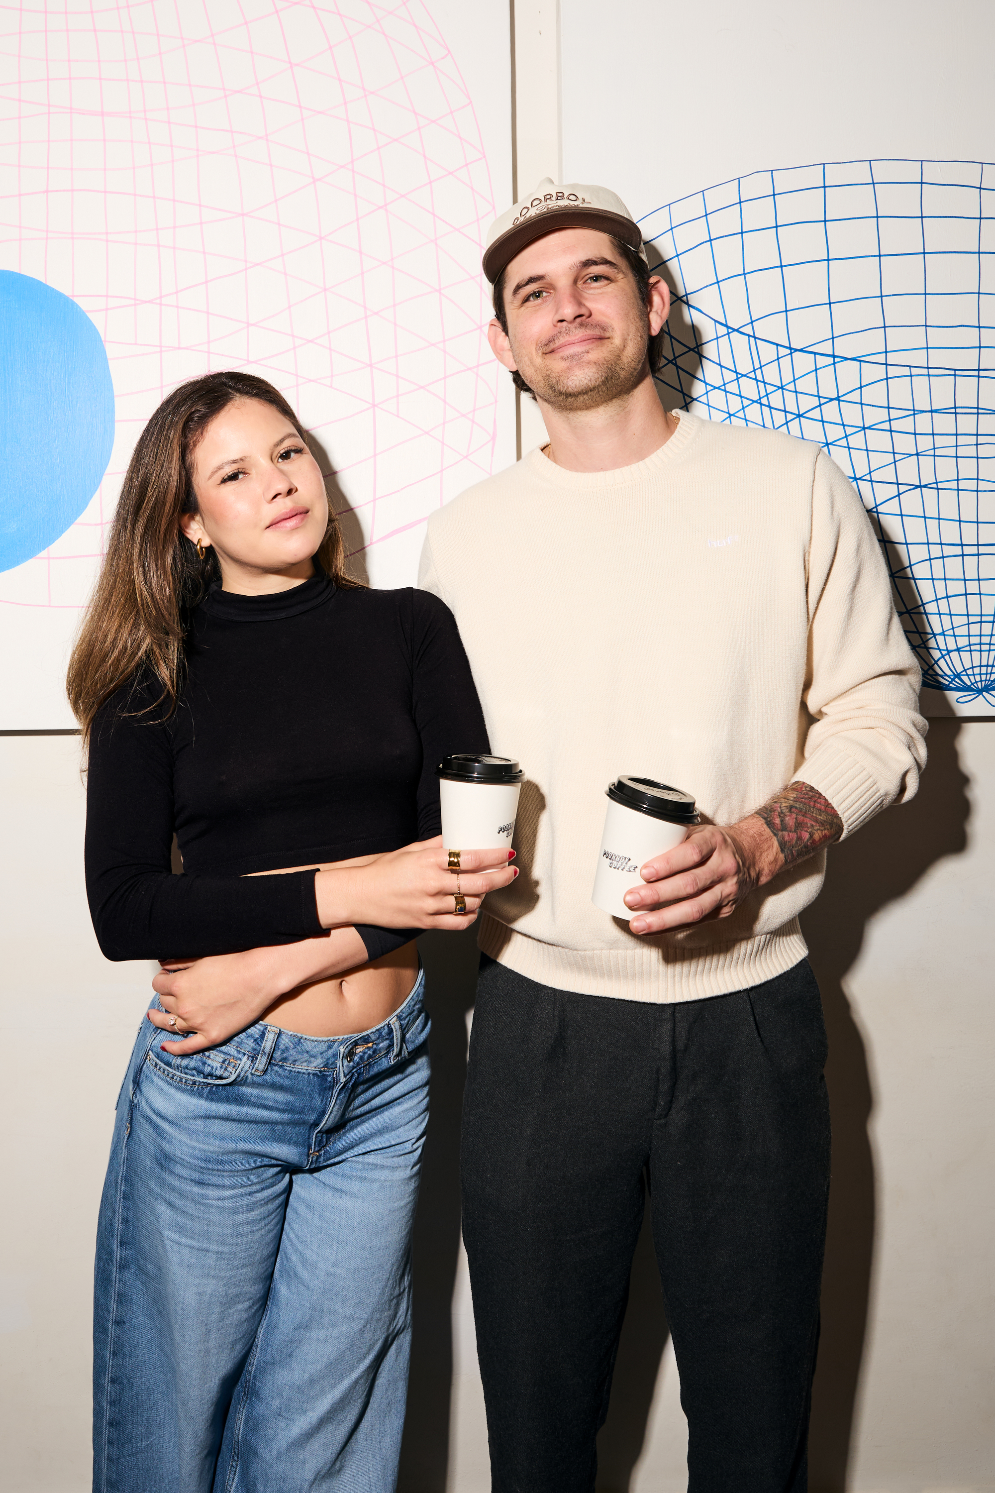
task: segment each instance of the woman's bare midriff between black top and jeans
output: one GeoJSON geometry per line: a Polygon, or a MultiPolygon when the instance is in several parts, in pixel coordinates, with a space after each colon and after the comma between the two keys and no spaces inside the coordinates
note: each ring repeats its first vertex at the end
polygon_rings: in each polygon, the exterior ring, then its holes
{"type": "MultiPolygon", "coordinates": [[[[357,855],[352,860],[325,861],[319,869],[333,870],[337,866],[368,866],[376,855],[357,855]]],[[[315,863],[312,861],[310,866],[315,863]]],[[[282,866],[280,870],[304,870],[304,866],[282,866]]],[[[260,876],[280,872],[255,872],[260,876]]],[[[307,985],[289,990],[274,1000],[263,1020],[285,1032],[301,1036],[349,1036],[354,1032],[368,1032],[370,1027],[388,1021],[398,1006],[403,1006],[418,979],[418,947],[412,939],[403,948],[382,959],[357,964],[331,979],[315,979],[307,985]]]]}

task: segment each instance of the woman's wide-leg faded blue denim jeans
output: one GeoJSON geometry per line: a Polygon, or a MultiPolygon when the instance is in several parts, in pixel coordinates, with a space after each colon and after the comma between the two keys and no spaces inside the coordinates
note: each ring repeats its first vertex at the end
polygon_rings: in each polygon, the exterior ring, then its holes
{"type": "Polygon", "coordinates": [[[382,1026],[143,1021],[97,1230],[95,1493],[389,1493],[428,1118],[424,973],[382,1026]]]}

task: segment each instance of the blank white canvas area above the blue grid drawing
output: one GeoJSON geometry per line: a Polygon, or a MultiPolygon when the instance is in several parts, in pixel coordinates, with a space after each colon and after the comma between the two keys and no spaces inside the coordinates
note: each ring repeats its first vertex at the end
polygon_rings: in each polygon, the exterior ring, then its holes
{"type": "Polygon", "coordinates": [[[988,0],[561,0],[564,181],[641,216],[765,167],[995,160],[994,30],[988,0]]]}

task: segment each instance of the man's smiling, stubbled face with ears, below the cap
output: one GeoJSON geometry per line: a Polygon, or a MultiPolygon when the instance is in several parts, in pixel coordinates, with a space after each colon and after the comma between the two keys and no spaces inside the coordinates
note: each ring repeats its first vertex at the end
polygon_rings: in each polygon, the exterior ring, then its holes
{"type": "Polygon", "coordinates": [[[668,309],[670,293],[656,276],[643,305],[607,233],[559,228],[507,266],[507,336],[495,318],[488,337],[504,367],[518,369],[546,405],[597,409],[647,376],[646,343],[668,309]]]}

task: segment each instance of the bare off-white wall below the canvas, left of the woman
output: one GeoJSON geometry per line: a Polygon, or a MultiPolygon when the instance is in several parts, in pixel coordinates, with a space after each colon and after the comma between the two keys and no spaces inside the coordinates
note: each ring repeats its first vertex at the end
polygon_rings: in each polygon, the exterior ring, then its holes
{"type": "Polygon", "coordinates": [[[3,1481],[84,1493],[97,1205],[152,966],[109,964],[94,939],[79,739],[0,738],[0,803],[3,1481]]]}

